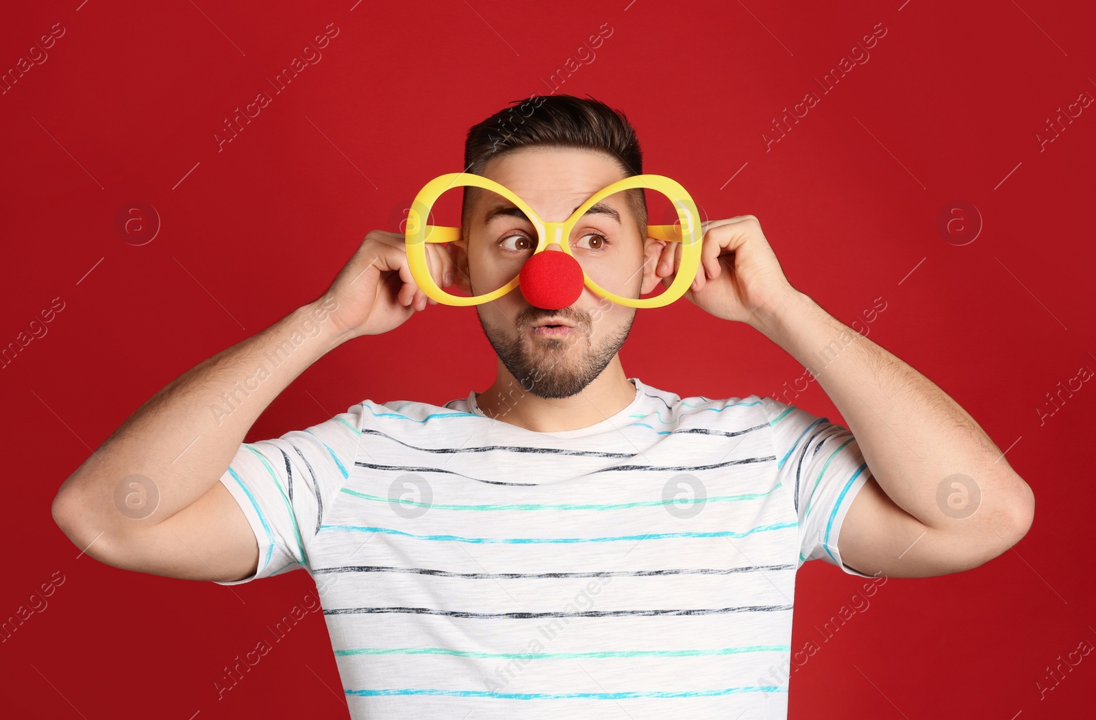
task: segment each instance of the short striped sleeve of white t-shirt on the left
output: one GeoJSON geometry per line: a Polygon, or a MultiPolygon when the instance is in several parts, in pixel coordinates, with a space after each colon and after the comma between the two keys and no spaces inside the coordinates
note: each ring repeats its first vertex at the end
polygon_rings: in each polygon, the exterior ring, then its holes
{"type": "Polygon", "coordinates": [[[362,441],[359,403],[318,425],[243,443],[220,477],[259,544],[259,568],[237,585],[308,565],[308,548],[353,468],[362,441]]]}

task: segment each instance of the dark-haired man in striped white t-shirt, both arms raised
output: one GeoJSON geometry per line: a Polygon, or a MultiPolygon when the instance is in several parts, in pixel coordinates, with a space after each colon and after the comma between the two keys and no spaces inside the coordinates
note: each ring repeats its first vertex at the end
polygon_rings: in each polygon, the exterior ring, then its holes
{"type": "MultiPolygon", "coordinates": [[[[504,135],[513,108],[471,128],[468,172],[548,221],[641,174],[623,115],[537,100],[504,135]]],[[[461,239],[430,243],[439,286],[499,287],[536,245],[499,197],[467,194],[461,239]]],[[[632,297],[669,284],[681,243],[646,237],[635,193],[606,207],[582,247],[639,268],[616,277],[632,297]]],[[[871,582],[974,568],[1025,535],[1034,498],[954,400],[788,283],[755,217],[703,230],[685,297],[804,365],[826,355],[812,372],[850,430],[628,378],[635,309],[589,288],[538,308],[518,289],[476,307],[498,354],[487,391],[366,400],[243,444],[326,352],[433,304],[402,237],[373,231],[322,297],[142,405],[54,517],[118,568],[220,584],[306,568],[357,717],[786,717],[787,672],[770,671],[788,666],[806,560],[871,582]]]]}

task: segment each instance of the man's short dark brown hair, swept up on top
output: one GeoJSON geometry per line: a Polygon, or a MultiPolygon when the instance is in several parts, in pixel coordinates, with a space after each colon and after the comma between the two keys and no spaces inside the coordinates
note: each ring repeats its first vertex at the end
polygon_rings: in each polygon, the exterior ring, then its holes
{"type": "MultiPolygon", "coordinates": [[[[468,130],[465,140],[465,172],[481,174],[493,158],[520,148],[596,150],[619,165],[625,178],[643,172],[643,152],[636,130],[623,112],[593,98],[534,95],[514,100],[468,130]]],[[[460,206],[461,225],[479,188],[465,187],[460,206]]],[[[647,237],[647,201],[640,187],[625,191],[636,216],[640,239],[647,237]]],[[[467,237],[467,236],[466,236],[467,237]]]]}

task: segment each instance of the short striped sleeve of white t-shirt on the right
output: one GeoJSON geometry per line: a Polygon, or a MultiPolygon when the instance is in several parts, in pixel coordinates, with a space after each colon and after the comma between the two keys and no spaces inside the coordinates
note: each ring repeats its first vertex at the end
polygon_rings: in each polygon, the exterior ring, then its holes
{"type": "Polygon", "coordinates": [[[853,498],[871,477],[853,433],[795,405],[761,398],[773,433],[777,471],[799,515],[799,565],[825,560],[860,578],[841,560],[838,537],[853,498]]]}

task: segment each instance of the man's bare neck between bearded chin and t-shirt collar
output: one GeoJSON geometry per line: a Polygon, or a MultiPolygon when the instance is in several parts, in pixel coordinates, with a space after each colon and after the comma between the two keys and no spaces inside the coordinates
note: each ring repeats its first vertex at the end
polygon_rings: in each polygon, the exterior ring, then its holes
{"type": "Polygon", "coordinates": [[[619,357],[614,357],[601,375],[570,398],[541,398],[526,391],[501,362],[491,387],[476,393],[476,404],[488,418],[537,433],[590,427],[635,399],[636,386],[625,376],[619,357]]]}

